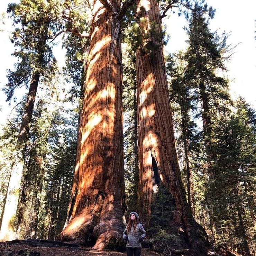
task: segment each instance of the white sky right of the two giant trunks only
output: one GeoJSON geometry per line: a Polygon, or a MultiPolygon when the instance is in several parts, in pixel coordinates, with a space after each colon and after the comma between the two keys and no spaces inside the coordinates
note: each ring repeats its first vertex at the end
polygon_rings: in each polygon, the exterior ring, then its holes
{"type": "MultiPolygon", "coordinates": [[[[211,31],[230,33],[227,45],[240,43],[226,66],[230,80],[230,93],[240,95],[256,109],[256,1],[248,1],[246,7],[239,0],[205,0],[216,9],[210,20],[211,31]]],[[[168,28],[171,39],[167,51],[175,52],[185,47],[184,19],[171,16],[168,28]],[[172,48],[172,49],[171,49],[172,48]]]]}

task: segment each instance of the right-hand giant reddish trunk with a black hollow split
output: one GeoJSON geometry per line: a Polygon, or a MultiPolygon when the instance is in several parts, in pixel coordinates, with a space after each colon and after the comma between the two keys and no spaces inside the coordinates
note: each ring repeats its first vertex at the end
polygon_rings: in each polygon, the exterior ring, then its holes
{"type": "MultiPolygon", "coordinates": [[[[145,34],[154,29],[150,28],[151,25],[158,24],[157,32],[161,38],[162,21],[157,1],[138,0],[137,15],[145,34]]],[[[159,38],[145,40],[144,47],[136,55],[140,167],[138,209],[147,227],[152,191],[161,179],[174,196],[181,222],[185,226],[184,232],[188,235],[194,252],[197,255],[207,254],[206,232],[195,222],[186,201],[175,147],[162,40],[159,38]]]]}

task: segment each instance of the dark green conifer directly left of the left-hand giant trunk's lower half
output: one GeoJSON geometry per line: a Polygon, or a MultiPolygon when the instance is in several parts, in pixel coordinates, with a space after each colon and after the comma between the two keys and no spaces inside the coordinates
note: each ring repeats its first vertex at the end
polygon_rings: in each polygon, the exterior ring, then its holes
{"type": "Polygon", "coordinates": [[[55,149],[52,153],[54,162],[51,164],[53,166],[49,166],[47,173],[48,182],[45,188],[47,196],[44,199],[46,200],[45,209],[47,210],[45,214],[50,221],[47,238],[52,240],[61,232],[65,224],[71,184],[74,177],[76,153],[76,130],[74,128],[76,126],[74,124],[70,126],[68,124],[70,121],[66,120],[64,122],[67,128],[58,134],[63,139],[62,141],[56,141],[56,144],[54,144],[55,149]]]}

